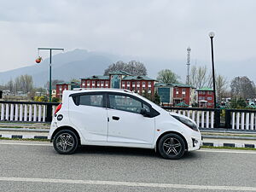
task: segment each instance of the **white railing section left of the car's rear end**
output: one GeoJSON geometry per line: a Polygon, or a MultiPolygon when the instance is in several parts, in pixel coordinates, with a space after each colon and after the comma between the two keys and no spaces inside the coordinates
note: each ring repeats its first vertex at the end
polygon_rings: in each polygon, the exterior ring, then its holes
{"type": "Polygon", "coordinates": [[[47,108],[52,108],[51,118],[55,113],[56,105],[56,103],[40,102],[2,102],[0,103],[0,120],[45,122],[49,120],[47,108]]]}

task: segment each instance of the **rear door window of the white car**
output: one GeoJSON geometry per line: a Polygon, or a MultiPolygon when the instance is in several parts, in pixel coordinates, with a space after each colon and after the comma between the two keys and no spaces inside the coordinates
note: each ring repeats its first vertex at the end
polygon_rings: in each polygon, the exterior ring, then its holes
{"type": "Polygon", "coordinates": [[[82,95],[79,97],[79,105],[103,107],[103,95],[82,95]]]}

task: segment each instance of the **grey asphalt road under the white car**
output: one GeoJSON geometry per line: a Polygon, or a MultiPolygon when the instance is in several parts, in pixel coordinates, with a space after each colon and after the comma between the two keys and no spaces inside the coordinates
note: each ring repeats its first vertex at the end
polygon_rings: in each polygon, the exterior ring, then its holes
{"type": "Polygon", "coordinates": [[[213,150],[164,160],[135,148],[0,141],[0,191],[256,191],[256,151],[213,150]]]}

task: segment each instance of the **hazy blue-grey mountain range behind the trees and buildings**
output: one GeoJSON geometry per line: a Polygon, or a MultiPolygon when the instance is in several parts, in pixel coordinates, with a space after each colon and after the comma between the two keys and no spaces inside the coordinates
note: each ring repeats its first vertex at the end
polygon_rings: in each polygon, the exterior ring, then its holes
{"type": "MultiPolygon", "coordinates": [[[[154,55],[154,54],[153,54],[154,55]]],[[[181,82],[185,82],[187,66],[186,58],[183,60],[170,60],[154,57],[138,57],[127,55],[113,55],[100,51],[88,51],[85,49],[74,49],[72,51],[63,52],[53,55],[52,57],[52,79],[60,79],[70,81],[71,79],[81,79],[91,75],[102,75],[104,70],[116,61],[142,61],[148,69],[148,77],[155,79],[157,73],[169,68],[181,78],[181,82]]],[[[236,76],[247,76],[249,79],[256,81],[254,75],[254,67],[256,59],[251,58],[247,61],[215,61],[215,70],[218,74],[222,74],[229,81],[236,76]],[[242,66],[242,67],[241,67],[242,66]]],[[[209,73],[212,68],[211,60],[206,63],[198,61],[198,65],[207,65],[209,73]]],[[[195,65],[195,60],[191,61],[191,66],[195,65]]],[[[6,84],[10,79],[15,79],[22,74],[32,75],[34,85],[36,87],[44,86],[49,81],[49,58],[44,59],[39,64],[32,64],[27,67],[20,67],[0,73],[0,83],[6,84]]]]}

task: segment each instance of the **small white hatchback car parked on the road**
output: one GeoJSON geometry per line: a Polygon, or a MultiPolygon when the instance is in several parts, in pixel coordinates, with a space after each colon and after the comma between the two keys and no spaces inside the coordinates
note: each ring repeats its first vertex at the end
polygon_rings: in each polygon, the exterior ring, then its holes
{"type": "Polygon", "coordinates": [[[154,148],[165,159],[179,159],[201,146],[192,119],[170,113],[129,90],[64,90],[49,139],[59,154],[79,145],[154,148]]]}

